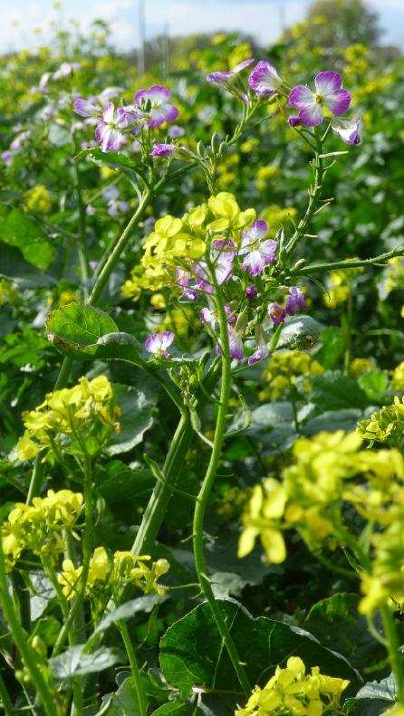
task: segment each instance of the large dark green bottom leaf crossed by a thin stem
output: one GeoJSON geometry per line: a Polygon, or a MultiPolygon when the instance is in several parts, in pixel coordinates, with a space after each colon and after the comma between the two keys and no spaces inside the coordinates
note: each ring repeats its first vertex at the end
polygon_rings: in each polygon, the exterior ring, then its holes
{"type": "MultiPolygon", "coordinates": [[[[358,687],[359,676],[351,665],[303,629],[264,616],[255,619],[233,600],[218,600],[217,604],[252,685],[266,683],[277,664],[284,666],[289,656],[297,655],[308,668],[320,666],[322,673],[350,679],[351,688],[358,687]]],[[[184,698],[194,686],[235,693],[240,690],[207,603],[168,629],[161,640],[160,664],[168,683],[178,688],[184,698]]]]}

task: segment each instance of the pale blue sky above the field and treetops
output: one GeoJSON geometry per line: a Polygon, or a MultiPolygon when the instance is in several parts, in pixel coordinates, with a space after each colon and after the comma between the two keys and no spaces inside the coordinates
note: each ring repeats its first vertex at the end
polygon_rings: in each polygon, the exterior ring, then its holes
{"type": "MultiPolygon", "coordinates": [[[[2,0],[5,3],[5,0],[2,0]]],[[[83,28],[101,17],[111,23],[118,46],[128,49],[139,41],[139,0],[65,0],[54,9],[54,0],[13,0],[2,8],[0,52],[29,47],[51,36],[49,23],[56,18],[81,22],[83,28]],[[40,29],[41,33],[34,31],[40,29]]],[[[368,0],[380,13],[385,43],[404,48],[404,0],[368,0]]],[[[209,32],[218,29],[255,34],[261,43],[272,43],[282,18],[293,24],[303,18],[310,0],[145,0],[147,36],[168,28],[170,34],[209,32]]]]}

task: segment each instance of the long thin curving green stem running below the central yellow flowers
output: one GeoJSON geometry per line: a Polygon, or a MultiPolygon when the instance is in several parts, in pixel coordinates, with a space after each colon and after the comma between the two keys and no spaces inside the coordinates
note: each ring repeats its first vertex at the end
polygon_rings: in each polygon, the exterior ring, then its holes
{"type": "Polygon", "coordinates": [[[209,464],[207,466],[207,473],[205,474],[205,478],[202,482],[200,491],[197,496],[198,500],[195,505],[193,522],[194,556],[195,566],[197,568],[197,578],[199,581],[200,588],[207,599],[208,605],[210,606],[212,615],[216,621],[217,629],[223,639],[227,653],[229,654],[231,662],[233,663],[233,666],[235,668],[238,681],[240,682],[241,687],[245,692],[245,695],[248,695],[251,692],[251,686],[245,673],[244,666],[240,662],[239,655],[237,654],[236,644],[234,643],[230,631],[226,625],[225,616],[222,614],[220,606],[216,602],[216,598],[211,587],[210,579],[207,577],[207,563],[204,554],[205,513],[207,511],[207,504],[209,501],[210,492],[212,490],[213,483],[215,482],[217,465],[219,463],[220,455],[222,452],[222,445],[226,432],[228,401],[231,389],[231,358],[227,332],[226,310],[222,295],[216,282],[215,272],[212,272],[212,280],[215,284],[216,289],[216,309],[220,323],[220,346],[222,351],[222,385],[220,389],[220,403],[217,410],[213,449],[210,455],[209,464]]]}

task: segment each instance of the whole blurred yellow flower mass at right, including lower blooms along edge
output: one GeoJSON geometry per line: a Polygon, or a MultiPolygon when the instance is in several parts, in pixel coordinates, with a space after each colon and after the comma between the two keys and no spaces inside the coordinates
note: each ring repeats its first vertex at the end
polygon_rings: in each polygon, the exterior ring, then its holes
{"type": "Polygon", "coordinates": [[[351,548],[357,537],[345,519],[344,504],[350,503],[377,526],[361,572],[360,611],[368,614],[390,598],[404,603],[404,459],[394,448],[361,451],[361,443],[358,433],[341,430],[297,440],[282,482],[267,478],[255,486],[238,556],[248,554],[259,537],[268,562],[283,562],[284,530],[292,528],[309,549],[351,548]]]}

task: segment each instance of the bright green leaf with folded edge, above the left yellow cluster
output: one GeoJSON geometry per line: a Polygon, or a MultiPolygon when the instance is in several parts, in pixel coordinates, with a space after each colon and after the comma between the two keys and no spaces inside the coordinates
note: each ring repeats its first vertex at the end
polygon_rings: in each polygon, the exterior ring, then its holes
{"type": "Polygon", "coordinates": [[[46,332],[61,353],[79,360],[128,360],[144,365],[139,341],[121,333],[115,321],[102,310],[81,303],[69,303],[53,310],[46,320],[46,332]]]}

